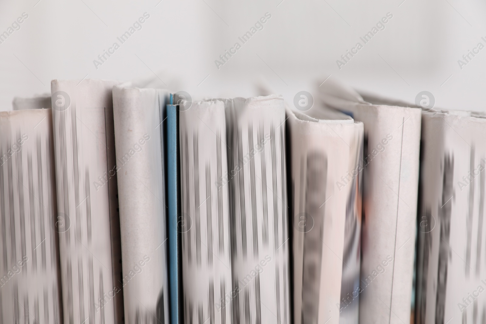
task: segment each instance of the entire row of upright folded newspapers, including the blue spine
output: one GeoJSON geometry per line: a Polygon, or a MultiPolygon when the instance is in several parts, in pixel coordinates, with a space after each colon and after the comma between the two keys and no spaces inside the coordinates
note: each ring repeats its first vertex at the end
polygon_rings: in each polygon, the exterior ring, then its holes
{"type": "Polygon", "coordinates": [[[0,112],[0,323],[486,323],[486,114],[53,80],[0,112]]]}

